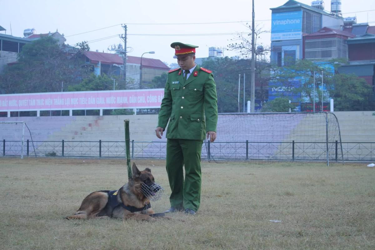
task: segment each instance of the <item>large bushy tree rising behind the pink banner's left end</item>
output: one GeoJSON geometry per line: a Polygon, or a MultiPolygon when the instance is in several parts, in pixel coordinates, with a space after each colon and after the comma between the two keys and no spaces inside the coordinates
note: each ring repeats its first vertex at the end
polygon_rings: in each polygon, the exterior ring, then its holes
{"type": "Polygon", "coordinates": [[[64,87],[77,84],[89,69],[81,52],[66,51],[51,36],[24,45],[17,63],[6,66],[0,76],[0,89],[6,94],[55,92],[62,90],[62,82],[64,87]]]}

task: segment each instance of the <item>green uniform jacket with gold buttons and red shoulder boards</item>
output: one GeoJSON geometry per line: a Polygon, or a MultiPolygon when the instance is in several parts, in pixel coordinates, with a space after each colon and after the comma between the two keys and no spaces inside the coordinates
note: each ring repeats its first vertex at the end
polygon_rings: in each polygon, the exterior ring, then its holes
{"type": "Polygon", "coordinates": [[[157,126],[168,139],[203,140],[206,132],[216,132],[217,95],[212,73],[196,65],[187,81],[183,70],[168,73],[157,126]]]}

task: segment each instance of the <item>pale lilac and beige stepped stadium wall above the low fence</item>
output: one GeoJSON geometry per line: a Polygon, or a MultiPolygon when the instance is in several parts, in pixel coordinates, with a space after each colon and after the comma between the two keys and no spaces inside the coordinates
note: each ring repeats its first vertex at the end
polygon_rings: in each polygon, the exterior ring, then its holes
{"type": "MultiPolygon", "coordinates": [[[[375,141],[373,111],[334,112],[334,114],[339,121],[342,142],[375,141]]],[[[66,141],[98,141],[99,139],[123,141],[125,119],[130,121],[131,140],[157,140],[154,133],[157,115],[1,117],[0,121],[25,121],[34,141],[61,141],[62,139],[66,141]]],[[[19,132],[13,127],[0,126],[1,141],[20,139],[17,139],[17,136],[20,136],[19,132]]],[[[31,138],[28,131],[25,131],[25,140],[27,139],[31,138]]],[[[163,139],[165,139],[165,133],[163,139]]]]}

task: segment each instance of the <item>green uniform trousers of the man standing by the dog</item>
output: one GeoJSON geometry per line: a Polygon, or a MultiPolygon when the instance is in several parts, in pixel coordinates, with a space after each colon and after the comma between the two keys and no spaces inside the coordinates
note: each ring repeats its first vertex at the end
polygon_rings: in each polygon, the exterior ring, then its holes
{"type": "Polygon", "coordinates": [[[172,190],[169,197],[172,207],[198,211],[201,202],[202,143],[202,140],[167,139],[166,172],[172,190]]]}

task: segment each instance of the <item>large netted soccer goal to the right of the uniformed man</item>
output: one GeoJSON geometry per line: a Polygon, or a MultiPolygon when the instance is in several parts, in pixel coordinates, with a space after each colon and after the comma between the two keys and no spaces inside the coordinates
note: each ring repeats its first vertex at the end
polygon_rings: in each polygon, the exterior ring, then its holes
{"type": "Polygon", "coordinates": [[[331,112],[219,114],[210,159],[342,160],[339,122],[331,112]],[[217,142],[217,143],[216,143],[217,142]]]}

